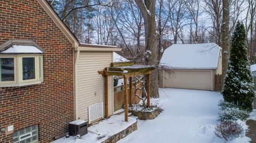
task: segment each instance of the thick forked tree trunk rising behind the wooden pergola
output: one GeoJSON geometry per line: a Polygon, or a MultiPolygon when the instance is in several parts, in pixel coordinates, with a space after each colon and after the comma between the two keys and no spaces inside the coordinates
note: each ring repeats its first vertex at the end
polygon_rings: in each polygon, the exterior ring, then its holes
{"type": "MultiPolygon", "coordinates": [[[[144,22],[145,22],[145,39],[146,39],[146,52],[150,51],[151,54],[146,58],[147,65],[156,65],[158,48],[157,48],[157,39],[158,34],[156,31],[156,21],[155,21],[155,6],[156,1],[145,2],[141,0],[135,0],[138,5],[140,12],[142,13],[144,22]]],[[[158,94],[158,71],[155,70],[150,77],[150,92],[152,97],[159,97],[158,94]]]]}

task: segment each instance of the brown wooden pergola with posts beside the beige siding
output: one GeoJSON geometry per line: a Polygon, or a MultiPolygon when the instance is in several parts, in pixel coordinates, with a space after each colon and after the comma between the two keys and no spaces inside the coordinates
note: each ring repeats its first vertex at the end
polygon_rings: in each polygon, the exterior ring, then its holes
{"type": "MultiPolygon", "coordinates": [[[[150,81],[150,74],[154,71],[153,66],[149,65],[134,65],[132,62],[118,62],[111,63],[109,68],[105,68],[104,71],[99,71],[104,76],[104,108],[105,118],[108,118],[108,76],[117,75],[124,77],[124,114],[125,121],[128,122],[128,88],[127,78],[130,78],[130,94],[129,94],[129,105],[132,105],[132,77],[138,75],[146,75],[147,81],[150,81]]],[[[147,82],[147,107],[150,106],[150,82],[147,82]]]]}

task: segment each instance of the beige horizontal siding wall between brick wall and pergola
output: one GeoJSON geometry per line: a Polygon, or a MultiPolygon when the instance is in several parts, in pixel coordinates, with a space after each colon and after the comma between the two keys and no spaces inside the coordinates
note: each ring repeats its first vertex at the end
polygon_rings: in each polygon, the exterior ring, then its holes
{"type": "MultiPolygon", "coordinates": [[[[104,78],[98,71],[109,67],[113,52],[80,52],[77,62],[76,117],[88,121],[88,106],[104,101],[104,78]]],[[[113,114],[113,78],[108,77],[109,115],[113,114]]]]}

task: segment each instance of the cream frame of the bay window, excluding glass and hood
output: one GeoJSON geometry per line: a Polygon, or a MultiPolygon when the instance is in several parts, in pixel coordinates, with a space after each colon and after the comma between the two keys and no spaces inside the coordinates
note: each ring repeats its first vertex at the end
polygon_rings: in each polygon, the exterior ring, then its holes
{"type": "Polygon", "coordinates": [[[0,55],[0,58],[14,58],[14,81],[1,81],[2,74],[0,70],[0,87],[17,87],[17,86],[19,87],[19,86],[35,85],[43,82],[44,80],[43,55],[41,54],[39,55],[37,54],[0,55]],[[23,74],[22,74],[22,58],[23,57],[35,58],[35,79],[23,80],[23,74]]]}

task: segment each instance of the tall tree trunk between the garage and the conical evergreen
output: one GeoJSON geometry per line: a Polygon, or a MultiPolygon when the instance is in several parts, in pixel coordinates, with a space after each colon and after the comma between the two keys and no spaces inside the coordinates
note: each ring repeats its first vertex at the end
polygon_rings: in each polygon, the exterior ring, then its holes
{"type": "Polygon", "coordinates": [[[223,20],[222,20],[222,31],[221,31],[221,41],[222,41],[222,83],[224,83],[224,77],[227,74],[228,60],[229,60],[229,1],[223,0],[223,20]]]}

